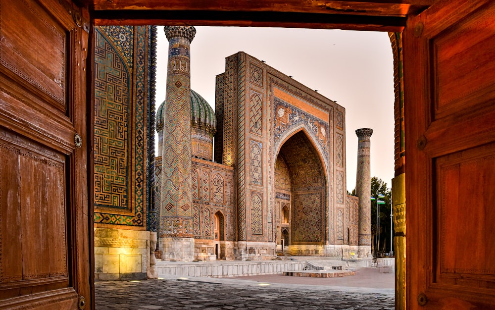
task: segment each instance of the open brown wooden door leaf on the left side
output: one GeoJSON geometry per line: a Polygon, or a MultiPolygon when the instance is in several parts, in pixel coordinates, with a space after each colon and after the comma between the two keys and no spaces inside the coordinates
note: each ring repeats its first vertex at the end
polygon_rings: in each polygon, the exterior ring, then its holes
{"type": "Polygon", "coordinates": [[[0,0],[0,309],[92,303],[83,13],[0,0]]]}

